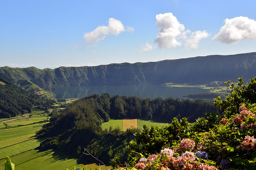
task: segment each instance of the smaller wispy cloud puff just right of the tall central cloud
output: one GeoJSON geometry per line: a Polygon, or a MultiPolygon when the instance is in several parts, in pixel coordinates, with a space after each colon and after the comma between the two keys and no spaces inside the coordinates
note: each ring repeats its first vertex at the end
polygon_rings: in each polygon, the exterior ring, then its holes
{"type": "Polygon", "coordinates": [[[188,39],[185,39],[184,46],[189,49],[189,48],[198,48],[198,43],[201,39],[205,39],[209,37],[210,34],[207,33],[205,30],[204,31],[196,31],[192,32],[191,36],[188,39]]]}

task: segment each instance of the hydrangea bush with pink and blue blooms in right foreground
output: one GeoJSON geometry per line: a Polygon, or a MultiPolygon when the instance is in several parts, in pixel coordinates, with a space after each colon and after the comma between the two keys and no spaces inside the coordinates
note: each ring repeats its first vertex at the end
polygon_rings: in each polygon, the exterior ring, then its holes
{"type": "Polygon", "coordinates": [[[230,94],[214,99],[221,114],[207,113],[188,123],[186,118],[173,119],[166,127],[143,126],[131,141],[128,167],[136,169],[256,169],[256,81],[246,85],[225,82],[230,94]],[[170,148],[170,149],[168,149],[170,148]],[[155,162],[141,158],[159,155],[155,162]]]}

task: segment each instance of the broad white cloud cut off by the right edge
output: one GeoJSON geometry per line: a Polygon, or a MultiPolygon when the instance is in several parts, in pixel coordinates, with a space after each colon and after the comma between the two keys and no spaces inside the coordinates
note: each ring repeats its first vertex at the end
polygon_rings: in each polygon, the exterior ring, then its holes
{"type": "Polygon", "coordinates": [[[225,19],[225,25],[220,32],[213,37],[213,40],[225,44],[237,44],[245,39],[256,38],[256,21],[248,17],[236,17],[225,19]]]}

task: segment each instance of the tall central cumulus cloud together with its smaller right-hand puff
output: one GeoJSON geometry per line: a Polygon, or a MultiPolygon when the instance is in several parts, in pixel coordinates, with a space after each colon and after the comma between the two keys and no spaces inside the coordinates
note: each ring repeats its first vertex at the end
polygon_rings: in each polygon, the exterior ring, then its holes
{"type": "Polygon", "coordinates": [[[159,48],[171,49],[182,44],[187,49],[198,48],[199,41],[210,36],[206,31],[191,32],[185,30],[185,26],[180,24],[171,12],[156,15],[156,27],[159,33],[156,36],[155,43],[158,44],[159,48]],[[191,35],[187,36],[187,34],[191,35]]]}

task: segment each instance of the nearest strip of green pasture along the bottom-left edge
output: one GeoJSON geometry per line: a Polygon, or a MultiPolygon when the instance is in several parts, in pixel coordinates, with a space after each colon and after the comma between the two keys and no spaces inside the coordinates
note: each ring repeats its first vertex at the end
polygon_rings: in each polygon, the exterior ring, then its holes
{"type": "MultiPolygon", "coordinates": [[[[79,160],[69,156],[67,154],[61,153],[59,151],[44,151],[39,152],[38,150],[30,150],[15,156],[10,157],[12,163],[15,164],[15,170],[26,170],[26,169],[71,169],[73,166],[79,167],[80,165],[87,168],[92,168],[93,170],[97,166],[95,163],[86,162],[84,160],[79,160]]],[[[0,160],[0,169],[4,169],[4,160],[0,160]]],[[[97,166],[97,168],[99,168],[97,166]]],[[[100,169],[106,170],[104,166],[100,166],[100,169]]]]}

